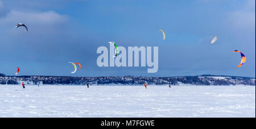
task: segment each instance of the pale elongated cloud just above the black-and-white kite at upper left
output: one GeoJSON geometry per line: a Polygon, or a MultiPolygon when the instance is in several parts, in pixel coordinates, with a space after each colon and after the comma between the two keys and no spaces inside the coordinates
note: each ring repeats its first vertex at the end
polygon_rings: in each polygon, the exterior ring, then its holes
{"type": "Polygon", "coordinates": [[[67,15],[61,15],[55,11],[20,11],[19,9],[7,9],[0,0],[0,23],[7,28],[13,28],[16,23],[24,23],[34,28],[51,28],[68,22],[67,15]]]}

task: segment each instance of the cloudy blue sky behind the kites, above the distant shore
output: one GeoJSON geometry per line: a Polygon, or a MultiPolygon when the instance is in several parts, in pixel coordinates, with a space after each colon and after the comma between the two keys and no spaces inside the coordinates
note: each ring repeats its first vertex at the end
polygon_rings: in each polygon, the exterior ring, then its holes
{"type": "Polygon", "coordinates": [[[0,0],[0,27],[0,73],[10,76],[19,66],[19,75],[255,77],[255,0],[0,0]],[[158,72],[98,67],[97,48],[108,41],[159,47],[158,72]],[[236,49],[246,56],[240,68],[236,49]],[[69,61],[81,70],[71,74],[69,61]]]}

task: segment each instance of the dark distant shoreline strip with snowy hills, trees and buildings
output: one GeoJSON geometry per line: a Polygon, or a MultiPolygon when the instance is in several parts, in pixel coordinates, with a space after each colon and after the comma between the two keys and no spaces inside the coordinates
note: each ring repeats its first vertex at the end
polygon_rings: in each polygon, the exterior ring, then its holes
{"type": "Polygon", "coordinates": [[[20,85],[255,85],[255,78],[237,76],[181,77],[68,77],[68,76],[0,76],[0,84],[20,85]]]}

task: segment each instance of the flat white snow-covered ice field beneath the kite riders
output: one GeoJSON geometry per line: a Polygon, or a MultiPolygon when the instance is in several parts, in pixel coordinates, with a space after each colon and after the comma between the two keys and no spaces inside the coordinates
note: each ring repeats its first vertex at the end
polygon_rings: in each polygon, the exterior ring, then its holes
{"type": "Polygon", "coordinates": [[[255,117],[255,86],[0,85],[0,117],[255,117]]]}

